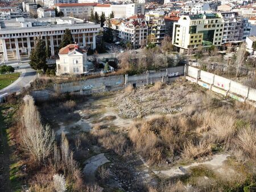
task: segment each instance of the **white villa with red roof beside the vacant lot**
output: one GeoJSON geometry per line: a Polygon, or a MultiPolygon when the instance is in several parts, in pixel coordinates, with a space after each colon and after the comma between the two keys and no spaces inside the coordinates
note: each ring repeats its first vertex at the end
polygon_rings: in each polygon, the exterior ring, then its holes
{"type": "Polygon", "coordinates": [[[59,60],[56,60],[57,72],[61,74],[84,74],[93,70],[91,62],[87,62],[87,50],[77,44],[69,44],[59,51],[59,60]]]}

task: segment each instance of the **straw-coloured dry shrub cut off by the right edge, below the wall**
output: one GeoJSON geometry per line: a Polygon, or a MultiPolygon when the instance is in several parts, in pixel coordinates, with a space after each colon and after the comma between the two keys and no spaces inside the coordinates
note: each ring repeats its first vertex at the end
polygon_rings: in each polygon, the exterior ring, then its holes
{"type": "Polygon", "coordinates": [[[238,133],[238,145],[243,153],[255,160],[256,158],[256,131],[255,128],[247,127],[238,133]]]}

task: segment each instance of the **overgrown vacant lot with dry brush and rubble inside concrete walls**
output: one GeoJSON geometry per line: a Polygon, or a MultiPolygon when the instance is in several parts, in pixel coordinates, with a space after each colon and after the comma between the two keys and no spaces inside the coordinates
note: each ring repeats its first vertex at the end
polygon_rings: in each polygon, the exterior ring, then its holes
{"type": "Polygon", "coordinates": [[[31,189],[49,190],[56,170],[75,187],[71,189],[88,187],[88,191],[253,191],[255,187],[255,108],[183,78],[170,85],[127,86],[88,97],[55,95],[36,106],[42,124],[54,130],[60,153],[68,151],[70,158],[67,163],[61,160],[63,155],[54,157],[53,162],[63,163],[51,165],[55,168],[50,174],[44,166],[33,172],[31,189]],[[66,168],[69,161],[74,165],[71,170],[66,168]]]}

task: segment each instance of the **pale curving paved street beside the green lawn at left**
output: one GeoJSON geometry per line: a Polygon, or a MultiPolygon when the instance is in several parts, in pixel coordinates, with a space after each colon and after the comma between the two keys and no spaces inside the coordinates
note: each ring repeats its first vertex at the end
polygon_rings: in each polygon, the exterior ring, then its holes
{"type": "Polygon", "coordinates": [[[31,69],[30,65],[27,62],[24,62],[22,64],[14,63],[7,65],[11,65],[15,69],[17,66],[19,66],[19,69],[16,69],[15,72],[21,72],[22,74],[13,84],[0,90],[0,95],[5,93],[19,92],[23,89],[23,87],[27,87],[28,85],[30,85],[30,82],[34,81],[36,78],[36,71],[34,69],[31,69]]]}

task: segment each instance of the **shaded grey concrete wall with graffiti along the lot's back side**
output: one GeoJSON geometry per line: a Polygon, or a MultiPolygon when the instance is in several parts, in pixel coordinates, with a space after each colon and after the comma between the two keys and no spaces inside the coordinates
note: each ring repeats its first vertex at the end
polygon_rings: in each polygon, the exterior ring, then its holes
{"type": "Polygon", "coordinates": [[[32,91],[32,96],[36,100],[47,100],[53,93],[76,93],[81,95],[89,95],[93,93],[102,93],[104,91],[121,90],[125,86],[131,84],[133,86],[143,86],[154,84],[156,81],[172,82],[177,77],[184,75],[184,66],[167,68],[160,72],[148,71],[144,74],[136,76],[118,75],[109,77],[92,78],[84,81],[67,82],[63,84],[55,84],[51,93],[49,90],[32,91]]]}

